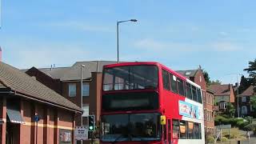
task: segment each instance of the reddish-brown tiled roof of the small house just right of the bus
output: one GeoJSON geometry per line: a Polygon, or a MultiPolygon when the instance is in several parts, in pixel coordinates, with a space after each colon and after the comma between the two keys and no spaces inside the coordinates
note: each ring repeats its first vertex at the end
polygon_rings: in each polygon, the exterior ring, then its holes
{"type": "Polygon", "coordinates": [[[210,89],[214,90],[214,95],[230,95],[230,86],[232,84],[226,84],[226,85],[211,85],[210,89]]]}

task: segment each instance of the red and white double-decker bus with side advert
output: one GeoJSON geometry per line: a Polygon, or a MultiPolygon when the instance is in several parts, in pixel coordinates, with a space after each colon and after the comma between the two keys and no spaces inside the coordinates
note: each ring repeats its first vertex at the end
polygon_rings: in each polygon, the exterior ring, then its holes
{"type": "Polygon", "coordinates": [[[205,143],[200,86],[158,62],[103,69],[101,143],[205,143]]]}

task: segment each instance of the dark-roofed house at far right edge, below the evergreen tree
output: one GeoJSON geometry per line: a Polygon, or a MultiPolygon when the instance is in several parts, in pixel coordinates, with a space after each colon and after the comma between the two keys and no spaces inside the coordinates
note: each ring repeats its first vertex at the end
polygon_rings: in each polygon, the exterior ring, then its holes
{"type": "Polygon", "coordinates": [[[251,98],[254,96],[254,86],[249,86],[245,91],[242,92],[242,94],[239,94],[238,97],[238,106],[239,106],[239,112],[240,116],[253,116],[252,112],[253,107],[250,104],[251,98]]]}

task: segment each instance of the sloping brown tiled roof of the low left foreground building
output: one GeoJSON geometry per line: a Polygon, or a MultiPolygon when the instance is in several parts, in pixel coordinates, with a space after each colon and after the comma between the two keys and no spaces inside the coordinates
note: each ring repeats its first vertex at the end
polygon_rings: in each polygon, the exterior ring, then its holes
{"type": "Polygon", "coordinates": [[[0,88],[3,88],[3,86],[16,91],[17,94],[24,94],[29,98],[35,98],[42,102],[82,112],[73,102],[57,94],[54,90],[50,90],[50,88],[31,78],[21,70],[0,62],[0,88]]]}

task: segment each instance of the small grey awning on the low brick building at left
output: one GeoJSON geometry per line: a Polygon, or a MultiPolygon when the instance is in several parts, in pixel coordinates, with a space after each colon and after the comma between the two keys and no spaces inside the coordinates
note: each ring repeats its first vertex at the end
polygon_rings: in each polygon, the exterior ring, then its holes
{"type": "Polygon", "coordinates": [[[19,110],[7,106],[7,115],[10,122],[24,124],[24,120],[19,110]]]}

